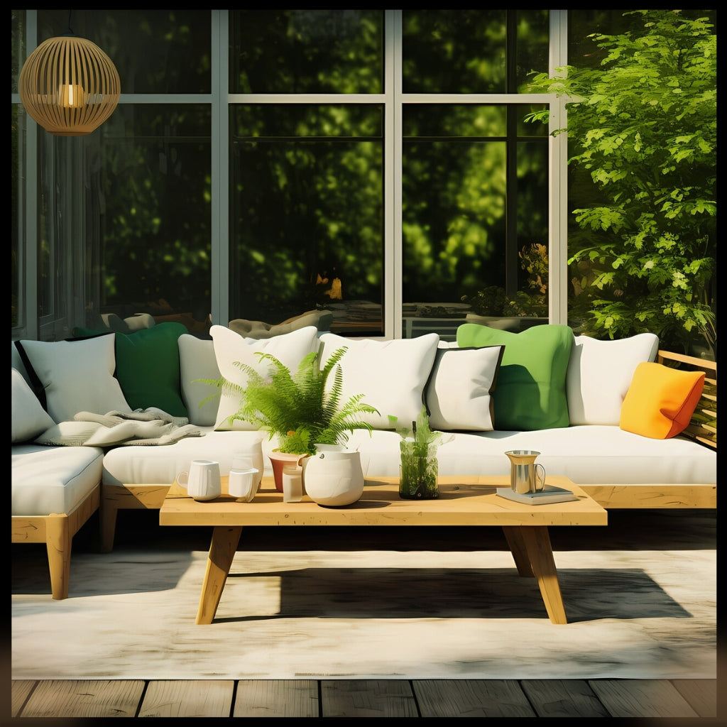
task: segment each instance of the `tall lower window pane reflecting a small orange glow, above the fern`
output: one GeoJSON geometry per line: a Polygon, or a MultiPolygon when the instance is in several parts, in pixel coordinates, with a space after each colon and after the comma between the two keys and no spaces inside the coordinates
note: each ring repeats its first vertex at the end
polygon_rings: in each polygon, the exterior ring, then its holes
{"type": "Polygon", "coordinates": [[[382,334],[382,108],[238,105],[230,117],[230,318],[329,308],[339,334],[382,334]]]}

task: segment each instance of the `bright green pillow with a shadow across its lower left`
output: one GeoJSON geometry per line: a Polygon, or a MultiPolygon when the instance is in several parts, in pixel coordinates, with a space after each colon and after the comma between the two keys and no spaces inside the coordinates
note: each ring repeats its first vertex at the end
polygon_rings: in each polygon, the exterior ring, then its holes
{"type": "Polygon", "coordinates": [[[460,348],[505,345],[497,374],[494,428],[532,431],[570,425],[566,372],[573,346],[569,326],[545,324],[511,333],[465,323],[457,329],[460,348]]]}

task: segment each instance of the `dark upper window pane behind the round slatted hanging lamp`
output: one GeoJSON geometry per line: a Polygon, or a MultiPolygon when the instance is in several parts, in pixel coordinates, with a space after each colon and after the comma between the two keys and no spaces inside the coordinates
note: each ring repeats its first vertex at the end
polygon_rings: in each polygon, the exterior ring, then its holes
{"type": "Polygon", "coordinates": [[[76,36],[113,61],[121,93],[209,93],[209,10],[39,10],[39,41],[76,36]],[[69,30],[70,29],[70,30],[69,30]]]}

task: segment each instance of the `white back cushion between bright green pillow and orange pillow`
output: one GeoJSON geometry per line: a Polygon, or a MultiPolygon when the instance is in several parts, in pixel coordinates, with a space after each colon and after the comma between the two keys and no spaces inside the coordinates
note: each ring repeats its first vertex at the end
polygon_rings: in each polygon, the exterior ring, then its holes
{"type": "Polygon", "coordinates": [[[654,361],[658,350],[659,337],[653,333],[613,341],[575,337],[566,373],[571,426],[618,426],[636,366],[641,361],[654,361]]]}

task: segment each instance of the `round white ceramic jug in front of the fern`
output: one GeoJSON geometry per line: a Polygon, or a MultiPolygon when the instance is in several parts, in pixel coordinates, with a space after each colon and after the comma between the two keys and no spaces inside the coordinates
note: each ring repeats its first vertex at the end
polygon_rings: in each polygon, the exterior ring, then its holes
{"type": "Polygon", "coordinates": [[[364,494],[359,451],[318,451],[302,465],[303,490],[318,505],[350,505],[364,494]]]}

